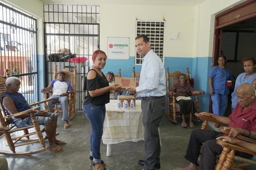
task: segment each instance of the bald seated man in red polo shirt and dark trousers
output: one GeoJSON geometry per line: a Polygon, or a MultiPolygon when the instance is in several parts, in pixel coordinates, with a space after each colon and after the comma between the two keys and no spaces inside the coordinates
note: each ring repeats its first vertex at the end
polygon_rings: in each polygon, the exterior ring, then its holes
{"type": "MultiPolygon", "coordinates": [[[[256,131],[256,97],[255,89],[252,84],[244,83],[237,88],[238,103],[229,117],[218,116],[213,113],[202,112],[204,116],[216,119],[228,127],[233,127],[230,130],[230,137],[244,135],[251,138],[256,136],[251,135],[250,131],[256,131]]],[[[184,168],[175,168],[174,170],[197,170],[197,159],[202,146],[200,158],[200,170],[214,170],[215,156],[220,155],[222,147],[216,143],[216,138],[223,136],[224,133],[214,130],[194,129],[190,135],[190,141],[187,146],[185,158],[190,161],[189,165],[184,168]]],[[[236,155],[250,157],[251,155],[236,152],[236,155]]]]}

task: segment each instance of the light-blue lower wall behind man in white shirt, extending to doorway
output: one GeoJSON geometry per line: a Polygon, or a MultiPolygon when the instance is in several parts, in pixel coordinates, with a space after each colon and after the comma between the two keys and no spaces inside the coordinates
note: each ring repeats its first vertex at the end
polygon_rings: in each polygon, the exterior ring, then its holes
{"type": "MultiPolygon", "coordinates": [[[[114,74],[118,74],[119,68],[121,68],[122,77],[132,77],[133,66],[135,66],[135,72],[140,72],[141,66],[135,65],[135,57],[130,57],[128,60],[112,60],[107,59],[107,64],[102,72],[107,73],[113,71],[114,74]]],[[[164,68],[169,68],[169,72],[180,71],[186,72],[186,67],[189,67],[190,74],[195,80],[195,90],[204,90],[205,95],[199,97],[199,109],[200,112],[209,111],[209,85],[208,75],[211,70],[212,57],[165,57],[164,68]]]]}

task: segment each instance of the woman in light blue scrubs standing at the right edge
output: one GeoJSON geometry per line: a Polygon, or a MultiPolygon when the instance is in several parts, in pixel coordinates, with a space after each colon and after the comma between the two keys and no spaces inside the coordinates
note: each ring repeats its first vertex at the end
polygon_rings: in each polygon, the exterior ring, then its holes
{"type": "Polygon", "coordinates": [[[238,75],[236,81],[235,81],[235,89],[232,93],[232,112],[235,109],[235,106],[237,105],[237,87],[244,83],[253,83],[254,77],[256,76],[256,62],[254,58],[248,57],[243,58],[242,63],[244,65],[244,72],[238,75]]]}

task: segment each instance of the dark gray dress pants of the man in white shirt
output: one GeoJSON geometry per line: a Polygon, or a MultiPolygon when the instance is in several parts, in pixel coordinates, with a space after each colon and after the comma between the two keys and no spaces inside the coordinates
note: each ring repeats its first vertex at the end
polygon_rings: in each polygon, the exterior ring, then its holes
{"type": "Polygon", "coordinates": [[[165,97],[145,97],[141,101],[144,131],[145,164],[144,170],[155,170],[160,163],[160,138],[158,127],[165,111],[165,97]]]}

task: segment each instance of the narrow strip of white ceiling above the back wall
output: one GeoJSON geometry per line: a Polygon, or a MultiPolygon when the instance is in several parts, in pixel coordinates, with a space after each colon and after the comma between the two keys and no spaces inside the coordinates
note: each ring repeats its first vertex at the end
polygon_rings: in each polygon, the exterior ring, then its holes
{"type": "Polygon", "coordinates": [[[69,4],[69,5],[171,5],[195,6],[205,0],[40,0],[44,4],[69,4]]]}

